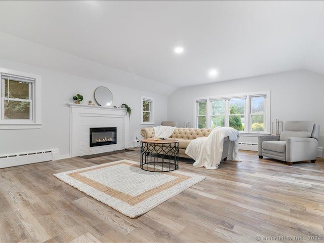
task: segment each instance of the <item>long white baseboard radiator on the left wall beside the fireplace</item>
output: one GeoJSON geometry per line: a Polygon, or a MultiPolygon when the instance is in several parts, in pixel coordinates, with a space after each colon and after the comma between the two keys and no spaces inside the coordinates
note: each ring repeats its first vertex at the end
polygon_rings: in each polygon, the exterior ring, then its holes
{"type": "Polygon", "coordinates": [[[38,151],[20,152],[0,155],[0,168],[21,166],[59,159],[58,149],[45,149],[38,151]]]}

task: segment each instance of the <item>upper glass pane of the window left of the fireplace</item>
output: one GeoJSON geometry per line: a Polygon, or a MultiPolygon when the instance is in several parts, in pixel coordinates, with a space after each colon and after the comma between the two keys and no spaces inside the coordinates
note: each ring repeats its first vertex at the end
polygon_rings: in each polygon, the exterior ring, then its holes
{"type": "Polygon", "coordinates": [[[18,82],[9,79],[5,79],[5,97],[8,98],[8,88],[9,88],[9,98],[17,99],[29,99],[29,83],[18,82]]]}

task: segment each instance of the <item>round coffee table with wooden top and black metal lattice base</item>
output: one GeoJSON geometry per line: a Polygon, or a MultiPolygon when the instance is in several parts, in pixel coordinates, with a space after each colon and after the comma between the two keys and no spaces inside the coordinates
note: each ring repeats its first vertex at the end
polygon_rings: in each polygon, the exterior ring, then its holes
{"type": "Polygon", "coordinates": [[[141,169],[152,172],[174,171],[179,168],[179,141],[154,138],[141,140],[141,169]]]}

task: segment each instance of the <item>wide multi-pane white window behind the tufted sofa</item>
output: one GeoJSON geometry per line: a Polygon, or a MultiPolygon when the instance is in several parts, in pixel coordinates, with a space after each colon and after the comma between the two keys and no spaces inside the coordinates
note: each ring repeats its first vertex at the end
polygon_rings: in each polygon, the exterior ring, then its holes
{"type": "Polygon", "coordinates": [[[270,133],[270,91],[194,99],[197,128],[270,133]]]}

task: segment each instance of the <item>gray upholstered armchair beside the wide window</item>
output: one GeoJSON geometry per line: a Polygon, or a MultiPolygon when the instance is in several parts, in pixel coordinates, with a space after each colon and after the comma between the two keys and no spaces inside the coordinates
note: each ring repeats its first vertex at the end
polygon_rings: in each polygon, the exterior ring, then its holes
{"type": "Polygon", "coordinates": [[[312,121],[286,121],[280,136],[259,136],[259,158],[263,156],[294,162],[310,160],[315,163],[319,125],[312,121]]]}

